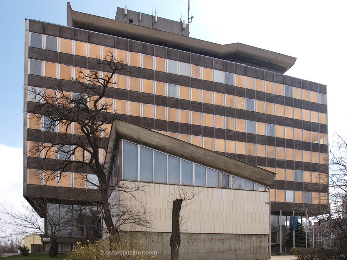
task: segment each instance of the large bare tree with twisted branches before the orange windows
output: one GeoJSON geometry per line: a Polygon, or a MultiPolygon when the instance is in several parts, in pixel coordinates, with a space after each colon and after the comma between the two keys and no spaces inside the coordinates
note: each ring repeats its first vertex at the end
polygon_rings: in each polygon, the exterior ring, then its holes
{"type": "Polygon", "coordinates": [[[29,104],[26,111],[44,129],[42,142],[31,145],[28,154],[30,157],[43,154],[44,176],[41,178],[43,181],[60,179],[71,169],[91,172],[80,174],[80,178],[98,190],[98,199],[89,203],[100,207],[110,237],[116,236],[124,224],[151,225],[146,207],[132,208],[123,201],[109,200],[112,192],[126,192],[135,197],[135,192],[143,191],[144,187],[121,182],[112,175],[112,167],[104,163],[107,153],[115,153],[108,150],[110,126],[115,116],[110,91],[116,72],[121,70],[126,70],[124,62],[108,52],[102,60],[97,59],[92,68],[76,69],[71,82],[62,80],[45,90],[29,88],[29,96],[36,102],[29,104]],[[59,132],[52,133],[56,127],[59,132]]]}

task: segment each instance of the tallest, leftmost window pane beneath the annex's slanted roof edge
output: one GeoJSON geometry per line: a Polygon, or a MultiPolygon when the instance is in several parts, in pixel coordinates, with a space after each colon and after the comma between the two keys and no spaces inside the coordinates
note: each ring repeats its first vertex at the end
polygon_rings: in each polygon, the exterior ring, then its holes
{"type": "Polygon", "coordinates": [[[138,145],[123,141],[123,178],[138,180],[138,145]]]}

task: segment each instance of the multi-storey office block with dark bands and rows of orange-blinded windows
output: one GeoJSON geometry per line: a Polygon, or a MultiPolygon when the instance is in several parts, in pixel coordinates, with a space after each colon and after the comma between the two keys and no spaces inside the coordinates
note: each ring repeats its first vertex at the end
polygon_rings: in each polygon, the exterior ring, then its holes
{"type": "MultiPolygon", "coordinates": [[[[270,186],[273,250],[280,209],[285,225],[293,209],[302,214],[311,205],[328,207],[328,180],[321,173],[327,155],[326,86],[284,75],[293,57],[190,38],[183,22],[122,8],[115,20],[106,19],[70,5],[68,26],[27,20],[25,111],[35,101],[28,89],[49,92],[52,84],[68,82],[77,69],[95,66],[95,58],[110,51],[127,67],[105,98],[117,118],[276,172],[270,186]]],[[[66,91],[77,90],[66,84],[66,91]]],[[[24,115],[28,149],[42,142],[40,133],[52,130],[35,120],[24,115]]],[[[77,127],[70,131],[78,134],[77,127]]],[[[74,177],[82,173],[70,173],[64,183],[42,183],[35,177],[38,164],[29,159],[26,154],[29,201],[32,185],[53,186],[52,197],[65,188],[88,188],[74,177]]]]}

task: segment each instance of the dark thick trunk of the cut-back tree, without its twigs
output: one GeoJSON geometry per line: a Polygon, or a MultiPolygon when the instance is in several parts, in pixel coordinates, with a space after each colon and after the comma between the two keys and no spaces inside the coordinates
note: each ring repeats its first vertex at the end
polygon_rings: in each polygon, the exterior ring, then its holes
{"type": "Polygon", "coordinates": [[[178,250],[181,244],[181,236],[179,232],[179,214],[181,211],[183,199],[176,199],[173,201],[172,206],[172,223],[171,223],[171,260],[178,260],[178,250]]]}

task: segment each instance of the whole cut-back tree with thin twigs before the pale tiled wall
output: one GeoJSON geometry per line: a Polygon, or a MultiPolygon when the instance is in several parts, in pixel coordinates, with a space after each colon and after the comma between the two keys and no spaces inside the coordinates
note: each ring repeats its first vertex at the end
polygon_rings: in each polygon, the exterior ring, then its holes
{"type": "MultiPolygon", "coordinates": [[[[182,203],[193,200],[200,191],[192,186],[174,186],[171,191],[172,198],[172,222],[171,222],[171,260],[179,259],[179,247],[181,245],[180,228],[182,225],[182,216],[180,216],[182,203]]],[[[183,206],[184,207],[184,206],[183,206]]]]}

